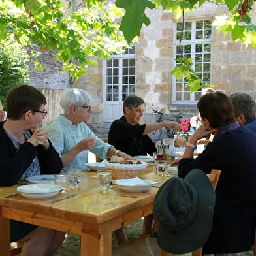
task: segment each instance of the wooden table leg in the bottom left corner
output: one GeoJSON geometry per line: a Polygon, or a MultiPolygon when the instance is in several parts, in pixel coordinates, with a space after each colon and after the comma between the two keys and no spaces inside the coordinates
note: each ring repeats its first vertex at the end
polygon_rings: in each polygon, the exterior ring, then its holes
{"type": "Polygon", "coordinates": [[[10,256],[10,219],[0,217],[0,256],[10,256]]]}

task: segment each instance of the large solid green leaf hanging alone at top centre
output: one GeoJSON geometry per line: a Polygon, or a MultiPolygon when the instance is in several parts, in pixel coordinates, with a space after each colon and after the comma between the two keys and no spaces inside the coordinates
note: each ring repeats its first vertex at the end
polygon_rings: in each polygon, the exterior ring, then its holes
{"type": "Polygon", "coordinates": [[[148,0],[116,0],[116,6],[125,9],[120,30],[130,44],[136,36],[140,35],[142,25],[150,24],[150,19],[145,14],[146,7],[153,9],[155,5],[148,0]]]}

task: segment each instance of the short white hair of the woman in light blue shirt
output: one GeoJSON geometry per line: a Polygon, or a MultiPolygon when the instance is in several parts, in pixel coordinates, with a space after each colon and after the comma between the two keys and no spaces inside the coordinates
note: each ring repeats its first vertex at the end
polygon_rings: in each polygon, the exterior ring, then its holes
{"type": "Polygon", "coordinates": [[[70,115],[71,106],[76,106],[80,110],[80,106],[91,106],[93,104],[93,98],[82,89],[68,88],[63,91],[60,104],[65,114],[70,115]]]}

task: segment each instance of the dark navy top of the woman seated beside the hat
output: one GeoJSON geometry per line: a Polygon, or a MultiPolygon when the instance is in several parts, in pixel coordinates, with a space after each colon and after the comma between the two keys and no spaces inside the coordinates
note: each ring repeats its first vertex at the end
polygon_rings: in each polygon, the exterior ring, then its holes
{"type": "Polygon", "coordinates": [[[194,168],[221,170],[212,232],[203,253],[239,253],[254,242],[256,223],[256,135],[246,127],[224,133],[196,159],[181,159],[178,176],[194,168]]]}

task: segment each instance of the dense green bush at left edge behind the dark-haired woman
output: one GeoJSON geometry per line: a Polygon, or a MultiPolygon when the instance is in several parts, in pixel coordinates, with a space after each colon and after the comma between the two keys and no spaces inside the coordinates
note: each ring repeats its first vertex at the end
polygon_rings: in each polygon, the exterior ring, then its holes
{"type": "Polygon", "coordinates": [[[0,100],[5,109],[8,89],[29,82],[29,56],[15,43],[0,43],[0,100]]]}

